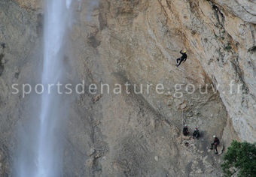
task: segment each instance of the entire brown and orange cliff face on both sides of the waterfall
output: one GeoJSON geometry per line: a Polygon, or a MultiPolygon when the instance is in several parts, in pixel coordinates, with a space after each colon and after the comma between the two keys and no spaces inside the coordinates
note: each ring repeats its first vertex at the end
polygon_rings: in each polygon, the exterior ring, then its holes
{"type": "MultiPolygon", "coordinates": [[[[123,92],[86,92],[72,102],[63,136],[65,176],[220,176],[222,157],[207,151],[213,134],[225,147],[230,139],[255,142],[253,1],[101,0],[74,6],[66,54],[67,73],[76,78],[72,83],[108,83],[112,90],[120,83],[123,92]],[[181,49],[188,59],[176,68],[181,49]],[[126,94],[126,83],[130,91],[139,84],[153,89],[126,94]],[[162,94],[154,90],[159,83],[162,94]],[[177,98],[178,92],[183,97],[177,98]],[[202,138],[183,139],[184,123],[190,131],[199,127],[202,138]]],[[[41,1],[0,2],[4,175],[13,174],[15,132],[18,125],[27,126],[33,105],[12,95],[11,84],[40,78],[41,9],[41,1]]]]}

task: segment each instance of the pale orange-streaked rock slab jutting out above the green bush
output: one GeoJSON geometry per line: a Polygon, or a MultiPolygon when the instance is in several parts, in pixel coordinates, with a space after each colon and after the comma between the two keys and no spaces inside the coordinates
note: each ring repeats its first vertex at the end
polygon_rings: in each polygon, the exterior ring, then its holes
{"type": "Polygon", "coordinates": [[[186,47],[193,51],[215,85],[220,85],[221,99],[240,139],[254,142],[256,31],[252,9],[255,3],[159,2],[170,24],[186,36],[186,47]],[[241,85],[239,90],[238,85],[241,85]]]}

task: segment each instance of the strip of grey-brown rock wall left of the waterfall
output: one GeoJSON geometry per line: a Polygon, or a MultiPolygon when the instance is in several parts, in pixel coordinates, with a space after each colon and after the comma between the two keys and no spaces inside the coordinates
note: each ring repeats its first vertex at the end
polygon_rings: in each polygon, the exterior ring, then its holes
{"type": "MultiPolygon", "coordinates": [[[[32,106],[21,93],[13,95],[13,83],[27,83],[37,76],[41,13],[20,7],[15,1],[0,1],[0,175],[9,176],[17,148],[17,124],[23,119],[24,105],[32,106]],[[22,106],[23,105],[23,106],[22,106]]],[[[20,89],[20,87],[19,87],[20,89]]],[[[35,104],[35,103],[34,103],[35,104]]],[[[30,110],[32,107],[30,107],[30,110]]],[[[24,139],[23,139],[24,140],[24,139]]]]}

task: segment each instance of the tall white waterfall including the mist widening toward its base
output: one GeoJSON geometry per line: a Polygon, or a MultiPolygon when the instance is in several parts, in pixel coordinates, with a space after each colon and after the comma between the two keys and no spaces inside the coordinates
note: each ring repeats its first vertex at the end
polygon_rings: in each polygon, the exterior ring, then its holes
{"type": "Polygon", "coordinates": [[[44,12],[44,62],[41,82],[44,93],[38,115],[31,127],[32,134],[22,135],[29,139],[20,150],[18,177],[58,177],[62,176],[63,136],[61,121],[67,115],[65,96],[58,94],[56,84],[65,73],[63,58],[69,23],[69,9],[72,0],[46,0],[44,12]],[[55,87],[49,87],[54,85],[55,87]],[[53,88],[53,89],[51,89],[53,88]],[[28,136],[28,137],[26,137],[28,136]],[[33,139],[33,140],[32,140],[33,139]]]}

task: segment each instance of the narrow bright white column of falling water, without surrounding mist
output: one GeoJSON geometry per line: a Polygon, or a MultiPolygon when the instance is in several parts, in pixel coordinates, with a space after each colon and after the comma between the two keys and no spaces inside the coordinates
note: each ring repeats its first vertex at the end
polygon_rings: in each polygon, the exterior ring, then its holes
{"type": "MultiPolygon", "coordinates": [[[[57,84],[62,75],[63,43],[66,34],[67,12],[70,0],[48,0],[44,20],[44,70],[42,83],[57,84]]],[[[56,95],[44,92],[41,102],[38,145],[38,170],[35,177],[61,175],[61,154],[55,133],[61,103],[56,95]]]]}

